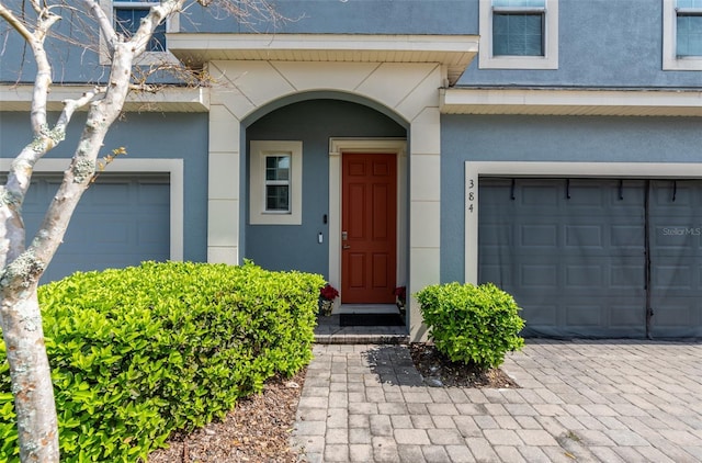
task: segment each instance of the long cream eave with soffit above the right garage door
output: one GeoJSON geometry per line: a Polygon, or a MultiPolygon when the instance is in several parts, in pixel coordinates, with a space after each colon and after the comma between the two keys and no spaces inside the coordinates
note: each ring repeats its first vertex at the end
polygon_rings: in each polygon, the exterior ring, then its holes
{"type": "Polygon", "coordinates": [[[702,116],[700,90],[570,90],[453,88],[443,114],[702,116]]]}

